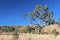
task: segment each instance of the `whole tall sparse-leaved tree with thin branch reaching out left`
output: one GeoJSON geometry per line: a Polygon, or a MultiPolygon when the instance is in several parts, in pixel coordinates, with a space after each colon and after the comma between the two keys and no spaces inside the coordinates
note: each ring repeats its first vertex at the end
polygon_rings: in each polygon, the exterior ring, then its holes
{"type": "MultiPolygon", "coordinates": [[[[29,15],[30,20],[32,20],[34,24],[51,25],[55,23],[53,11],[49,11],[47,5],[44,7],[42,5],[36,6],[36,8],[27,15],[29,15]]],[[[27,15],[25,14],[24,17],[27,15]]],[[[40,26],[38,26],[38,28],[39,27],[40,26]]]]}

